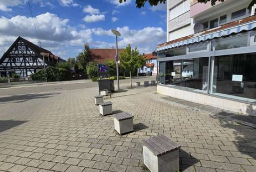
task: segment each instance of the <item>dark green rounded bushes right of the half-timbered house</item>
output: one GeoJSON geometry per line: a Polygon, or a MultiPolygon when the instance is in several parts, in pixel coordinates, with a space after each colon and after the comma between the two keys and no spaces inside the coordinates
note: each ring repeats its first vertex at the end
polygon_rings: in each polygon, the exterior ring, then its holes
{"type": "Polygon", "coordinates": [[[51,81],[62,81],[68,80],[71,77],[71,73],[62,68],[57,67],[47,67],[45,69],[41,69],[37,73],[30,75],[32,80],[46,80],[51,81]]]}

